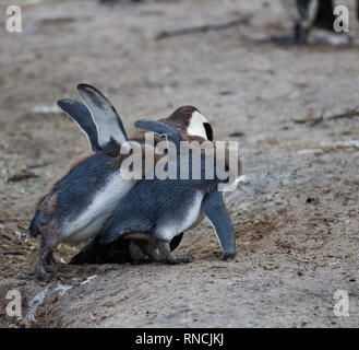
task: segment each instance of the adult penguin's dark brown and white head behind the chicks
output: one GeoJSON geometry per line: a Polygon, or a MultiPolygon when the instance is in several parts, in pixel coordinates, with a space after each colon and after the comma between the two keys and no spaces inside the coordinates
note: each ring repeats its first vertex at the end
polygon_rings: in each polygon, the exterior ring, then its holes
{"type": "Polygon", "coordinates": [[[199,136],[213,141],[213,129],[207,118],[193,106],[181,106],[177,108],[169,117],[160,119],[181,132],[191,136],[199,136]]]}

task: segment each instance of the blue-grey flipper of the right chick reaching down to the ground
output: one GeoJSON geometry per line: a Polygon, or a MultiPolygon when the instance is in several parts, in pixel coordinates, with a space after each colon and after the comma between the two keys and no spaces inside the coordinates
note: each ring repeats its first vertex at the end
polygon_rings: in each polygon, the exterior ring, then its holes
{"type": "Polygon", "coordinates": [[[213,191],[204,196],[202,211],[211,221],[219,241],[224,259],[236,255],[236,237],[228,215],[223,192],[213,191]]]}

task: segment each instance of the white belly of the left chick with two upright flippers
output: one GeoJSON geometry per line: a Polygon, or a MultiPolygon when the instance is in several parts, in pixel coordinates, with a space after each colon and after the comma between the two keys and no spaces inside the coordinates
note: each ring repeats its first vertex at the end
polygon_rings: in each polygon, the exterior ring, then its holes
{"type": "Polygon", "coordinates": [[[119,172],[113,174],[91,205],[74,220],[64,223],[63,241],[79,242],[96,235],[133,185],[134,182],[123,179],[119,172]]]}

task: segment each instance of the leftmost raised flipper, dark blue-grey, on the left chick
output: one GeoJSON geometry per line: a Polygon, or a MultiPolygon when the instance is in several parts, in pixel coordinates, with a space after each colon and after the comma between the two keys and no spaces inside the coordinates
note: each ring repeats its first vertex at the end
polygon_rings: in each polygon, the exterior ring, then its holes
{"type": "Polygon", "coordinates": [[[58,101],[58,106],[73,119],[80,129],[86,135],[92,149],[100,151],[103,148],[98,144],[97,128],[87,107],[71,98],[58,101]]]}

